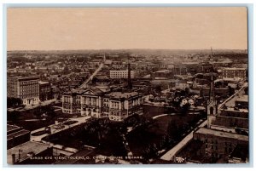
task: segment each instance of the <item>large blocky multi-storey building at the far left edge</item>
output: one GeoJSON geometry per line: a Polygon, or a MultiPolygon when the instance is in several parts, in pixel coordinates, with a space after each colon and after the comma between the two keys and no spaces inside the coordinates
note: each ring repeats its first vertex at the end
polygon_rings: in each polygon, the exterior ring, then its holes
{"type": "Polygon", "coordinates": [[[20,98],[25,105],[39,102],[39,77],[7,77],[7,96],[20,98]]]}

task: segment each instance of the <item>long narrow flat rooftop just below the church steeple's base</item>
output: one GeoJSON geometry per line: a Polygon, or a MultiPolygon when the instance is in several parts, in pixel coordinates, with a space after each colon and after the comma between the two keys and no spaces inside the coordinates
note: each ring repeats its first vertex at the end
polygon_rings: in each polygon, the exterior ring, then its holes
{"type": "Polygon", "coordinates": [[[223,131],[213,130],[210,128],[199,128],[195,133],[211,134],[213,136],[231,138],[231,139],[236,139],[236,140],[246,140],[246,141],[249,140],[248,136],[246,136],[246,135],[232,134],[232,133],[227,133],[227,132],[223,132],[223,131]]]}

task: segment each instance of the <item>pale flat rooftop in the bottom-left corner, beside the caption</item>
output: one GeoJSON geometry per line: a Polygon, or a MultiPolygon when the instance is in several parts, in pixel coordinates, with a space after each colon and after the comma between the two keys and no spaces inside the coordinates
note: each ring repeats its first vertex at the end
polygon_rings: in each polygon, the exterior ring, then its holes
{"type": "Polygon", "coordinates": [[[33,152],[35,155],[38,153],[45,151],[49,148],[49,145],[45,145],[43,143],[28,141],[24,144],[17,145],[14,148],[11,148],[7,151],[7,163],[12,163],[12,154],[15,154],[16,158],[18,158],[20,151],[20,161],[26,160],[27,153],[33,152]]]}

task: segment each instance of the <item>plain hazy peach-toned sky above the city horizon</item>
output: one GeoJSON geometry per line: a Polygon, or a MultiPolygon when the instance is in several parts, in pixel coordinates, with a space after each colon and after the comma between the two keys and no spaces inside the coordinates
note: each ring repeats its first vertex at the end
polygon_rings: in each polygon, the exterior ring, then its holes
{"type": "Polygon", "coordinates": [[[8,9],[8,50],[247,49],[246,8],[8,9]]]}

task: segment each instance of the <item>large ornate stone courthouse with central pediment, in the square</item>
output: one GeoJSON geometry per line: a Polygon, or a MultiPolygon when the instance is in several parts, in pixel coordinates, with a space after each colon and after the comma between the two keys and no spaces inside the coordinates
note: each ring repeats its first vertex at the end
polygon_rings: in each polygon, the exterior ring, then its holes
{"type": "Polygon", "coordinates": [[[98,88],[78,89],[62,95],[62,111],[91,117],[109,117],[123,121],[133,114],[143,114],[143,94],[137,92],[104,93],[98,88]]]}

